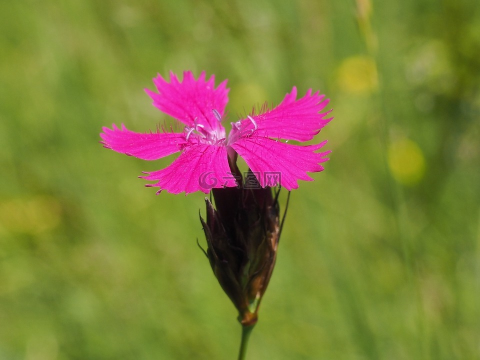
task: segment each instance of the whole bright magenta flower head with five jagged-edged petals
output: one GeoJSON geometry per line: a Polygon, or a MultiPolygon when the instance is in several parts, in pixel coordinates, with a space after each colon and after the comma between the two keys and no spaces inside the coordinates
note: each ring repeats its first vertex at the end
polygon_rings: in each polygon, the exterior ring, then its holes
{"type": "Polygon", "coordinates": [[[216,88],[214,76],[205,80],[202,72],[197,80],[190,71],[178,81],[170,72],[170,81],[160,75],[153,78],[158,92],[145,89],[153,105],[182,122],[182,132],[159,130],[138,133],[121,128],[103,127],[101,143],[106,148],[144,160],[156,160],[180,152],[180,155],[161,170],[145,172],[140,176],[156,181],[145,186],[158,186],[161,190],[177,194],[194,191],[207,193],[210,188],[236,186],[228,159],[233,163],[240,155],[255,174],[262,187],[274,186],[269,174],[280,174],[281,186],[287,190],[297,188],[298,180],[312,180],[307,172],[323,170],[322,162],[330,151],[316,152],[326,141],[312,145],[295,145],[288,140],[308,141],[331,120],[320,112],[328,99],[319,92],[308,90],[296,99],[296,87],[287,93],[275,108],[232,122],[228,135],[221,124],[228,102],[226,80],[216,88]],[[285,141],[281,141],[285,140],[285,141]],[[205,184],[205,174],[210,182],[205,184]],[[203,179],[203,180],[202,180],[203,179]]]}

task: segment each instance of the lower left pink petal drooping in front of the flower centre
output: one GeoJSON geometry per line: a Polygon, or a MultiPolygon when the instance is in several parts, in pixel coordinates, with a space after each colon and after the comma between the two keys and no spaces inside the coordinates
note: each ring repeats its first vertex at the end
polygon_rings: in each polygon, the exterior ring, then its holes
{"type": "Polygon", "coordinates": [[[170,193],[194,191],[208,193],[212,187],[236,186],[230,173],[225,146],[198,145],[188,147],[169,166],[153,171],[145,180],[156,180],[156,183],[145,186],[158,186],[160,190],[170,193]]]}

